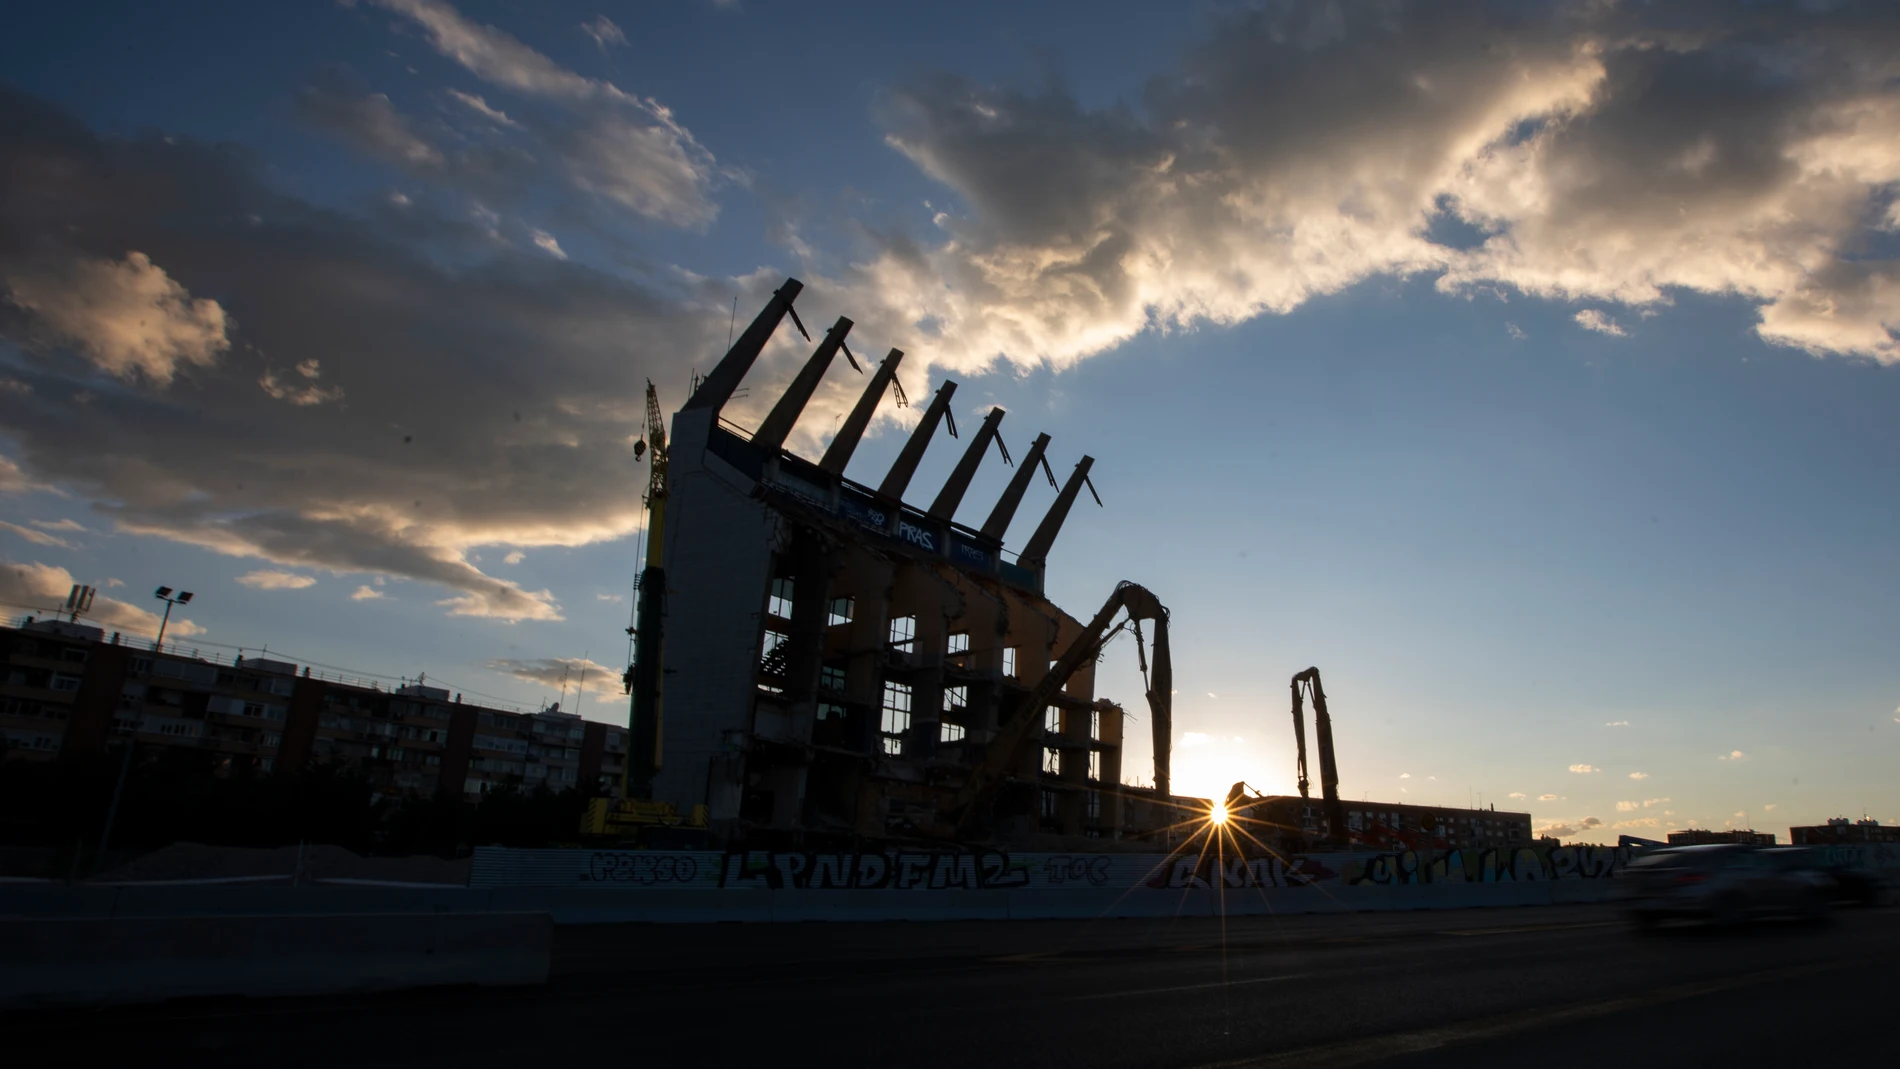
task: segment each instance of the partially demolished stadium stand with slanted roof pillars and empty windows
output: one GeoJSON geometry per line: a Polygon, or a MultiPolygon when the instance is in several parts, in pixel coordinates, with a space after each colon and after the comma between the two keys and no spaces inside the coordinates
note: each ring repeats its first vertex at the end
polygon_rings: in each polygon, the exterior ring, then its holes
{"type": "MultiPolygon", "coordinates": [[[[1013,560],[1003,535],[1030,480],[1054,484],[1049,435],[1016,461],[980,526],[958,522],[990,446],[1009,459],[1001,408],[969,435],[929,507],[904,501],[939,427],[954,433],[954,382],[937,387],[874,486],[849,478],[899,349],[868,376],[823,458],[788,452],[838,351],[851,359],[844,317],[756,431],[724,422],[783,319],[796,323],[800,289],[787,279],[673,416],[656,532],[663,598],[642,591],[640,621],[663,628],[663,642],[642,634],[663,668],[629,672],[648,680],[648,693],[635,687],[633,790],[680,811],[705,805],[720,837],[918,835],[1085,628],[1043,596],[1043,570],[1092,461],[1075,463],[1013,560]]],[[[994,837],[1121,839],[1167,824],[1167,725],[1155,731],[1161,794],[1121,786],[1123,708],[1094,695],[1092,653],[1039,718],[996,796],[994,837]]]]}

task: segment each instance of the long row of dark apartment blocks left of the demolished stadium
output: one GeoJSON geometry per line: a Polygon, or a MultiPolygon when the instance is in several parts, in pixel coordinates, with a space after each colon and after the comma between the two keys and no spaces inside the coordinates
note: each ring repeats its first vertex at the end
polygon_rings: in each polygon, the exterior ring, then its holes
{"type": "Polygon", "coordinates": [[[479,799],[496,786],[618,796],[627,731],[559,706],[513,712],[441,687],[384,689],[266,657],[218,659],[127,642],[84,623],[0,627],[4,760],[55,760],[135,739],[256,771],[361,767],[376,792],[479,799]]]}

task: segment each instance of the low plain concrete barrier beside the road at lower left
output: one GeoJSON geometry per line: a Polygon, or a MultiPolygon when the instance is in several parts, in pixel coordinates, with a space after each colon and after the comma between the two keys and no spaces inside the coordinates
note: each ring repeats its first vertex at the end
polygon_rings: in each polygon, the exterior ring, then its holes
{"type": "Polygon", "coordinates": [[[545,984],[543,913],[0,919],[0,1008],[545,984]]]}

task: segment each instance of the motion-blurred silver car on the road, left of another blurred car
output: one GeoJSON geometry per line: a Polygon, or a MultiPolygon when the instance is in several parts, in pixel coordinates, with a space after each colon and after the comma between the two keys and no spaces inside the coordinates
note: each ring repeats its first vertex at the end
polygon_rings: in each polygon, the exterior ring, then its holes
{"type": "Polygon", "coordinates": [[[1837,885],[1801,849],[1666,847],[1624,870],[1623,910],[1642,928],[1666,919],[1740,925],[1754,917],[1828,915],[1837,885]]]}

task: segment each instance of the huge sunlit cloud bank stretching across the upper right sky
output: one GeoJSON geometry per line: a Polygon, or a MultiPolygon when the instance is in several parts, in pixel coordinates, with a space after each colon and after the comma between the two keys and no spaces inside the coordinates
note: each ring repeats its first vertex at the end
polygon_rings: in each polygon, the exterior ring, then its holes
{"type": "Polygon", "coordinates": [[[1771,344],[1900,361],[1900,262],[1864,251],[1900,180],[1887,13],[1510,11],[1235,6],[1138,106],[918,78],[880,122],[954,197],[853,273],[889,323],[939,323],[931,359],[958,368],[1064,366],[1376,275],[1737,296],[1771,344]]]}

